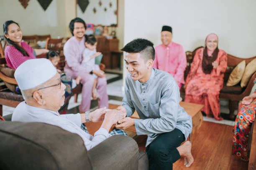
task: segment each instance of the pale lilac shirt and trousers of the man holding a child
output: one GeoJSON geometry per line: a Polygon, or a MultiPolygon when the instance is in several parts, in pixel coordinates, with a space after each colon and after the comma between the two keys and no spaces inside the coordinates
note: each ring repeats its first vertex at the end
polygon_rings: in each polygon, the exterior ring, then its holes
{"type": "MultiPolygon", "coordinates": [[[[71,76],[75,79],[77,76],[81,76],[82,87],[82,103],[79,106],[79,110],[82,112],[89,111],[91,105],[92,86],[94,77],[90,74],[91,69],[83,67],[82,53],[86,48],[84,46],[85,38],[82,41],[78,41],[74,36],[69,38],[67,43],[64,45],[64,56],[66,58],[65,68],[67,76],[71,76]]],[[[97,78],[97,93],[99,107],[108,108],[108,94],[107,94],[107,79],[105,77],[97,78]]]]}

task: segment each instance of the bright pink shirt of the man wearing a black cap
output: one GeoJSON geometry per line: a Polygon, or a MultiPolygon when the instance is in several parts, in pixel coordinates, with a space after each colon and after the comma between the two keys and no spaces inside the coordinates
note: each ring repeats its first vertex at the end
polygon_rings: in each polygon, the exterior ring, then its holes
{"type": "Polygon", "coordinates": [[[171,42],[167,47],[163,44],[156,46],[155,51],[153,67],[172,74],[180,88],[184,84],[184,71],[187,67],[186,53],[182,46],[171,42]]]}

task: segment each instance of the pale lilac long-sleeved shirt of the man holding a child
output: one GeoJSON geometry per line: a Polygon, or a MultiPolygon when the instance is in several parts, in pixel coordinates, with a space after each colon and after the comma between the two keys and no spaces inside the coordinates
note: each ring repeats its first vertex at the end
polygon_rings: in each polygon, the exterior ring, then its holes
{"type": "Polygon", "coordinates": [[[71,70],[79,73],[90,73],[92,69],[86,68],[81,65],[82,54],[86,48],[84,45],[85,37],[81,41],[78,41],[74,36],[69,38],[64,45],[64,56],[66,58],[66,64],[64,70],[71,70]]]}

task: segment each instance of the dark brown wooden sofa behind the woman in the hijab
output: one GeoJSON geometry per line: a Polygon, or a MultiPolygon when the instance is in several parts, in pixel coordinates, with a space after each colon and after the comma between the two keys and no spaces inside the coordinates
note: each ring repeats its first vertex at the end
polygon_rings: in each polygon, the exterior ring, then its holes
{"type": "MultiPolygon", "coordinates": [[[[196,48],[193,52],[192,51],[186,51],[187,56],[187,67],[184,71],[184,80],[186,80],[186,77],[189,73],[190,66],[193,61],[193,57],[195,56],[195,51],[198,48],[196,48]]],[[[235,86],[226,86],[226,83],[228,81],[228,78],[233,71],[233,69],[236,67],[238,63],[245,60],[246,64],[248,64],[251,60],[253,60],[255,57],[252,58],[238,58],[235,56],[232,56],[228,54],[228,67],[224,73],[224,84],[223,88],[220,90],[220,98],[221,99],[227,99],[229,104],[229,117],[230,119],[235,119],[234,111],[238,109],[238,101],[241,101],[243,97],[248,96],[251,93],[251,89],[253,87],[253,80],[256,78],[256,72],[251,76],[251,79],[249,80],[248,85],[245,88],[241,88],[240,83],[235,86]]],[[[181,93],[185,93],[184,88],[182,87],[180,89],[181,93]]]]}

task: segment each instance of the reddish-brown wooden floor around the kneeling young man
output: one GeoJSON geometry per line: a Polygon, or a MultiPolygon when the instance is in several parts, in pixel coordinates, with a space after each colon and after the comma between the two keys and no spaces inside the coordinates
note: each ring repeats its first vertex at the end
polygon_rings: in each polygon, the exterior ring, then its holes
{"type": "MultiPolygon", "coordinates": [[[[117,106],[110,104],[110,109],[117,106]]],[[[100,124],[88,124],[88,131],[94,134],[100,124]]],[[[184,160],[174,163],[174,170],[247,170],[244,162],[231,154],[233,127],[225,124],[203,122],[202,126],[191,136],[192,155],[195,162],[191,167],[184,167],[184,160]]],[[[145,151],[146,135],[134,137],[139,149],[145,151]]]]}

